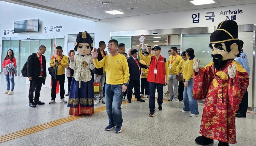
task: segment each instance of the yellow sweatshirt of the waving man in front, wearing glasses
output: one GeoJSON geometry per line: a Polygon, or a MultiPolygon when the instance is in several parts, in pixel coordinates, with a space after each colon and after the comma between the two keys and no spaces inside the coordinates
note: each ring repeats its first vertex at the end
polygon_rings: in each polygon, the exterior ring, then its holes
{"type": "Polygon", "coordinates": [[[105,67],[107,84],[119,85],[128,83],[130,73],[127,59],[124,55],[119,53],[116,56],[107,55],[100,61],[93,59],[93,63],[96,68],[105,67]]]}

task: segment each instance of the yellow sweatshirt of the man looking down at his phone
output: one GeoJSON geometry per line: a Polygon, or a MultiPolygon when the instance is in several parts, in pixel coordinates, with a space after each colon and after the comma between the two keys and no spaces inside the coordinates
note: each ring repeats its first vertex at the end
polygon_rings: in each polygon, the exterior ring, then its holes
{"type": "MultiPolygon", "coordinates": [[[[65,74],[65,67],[68,65],[68,57],[66,55],[63,55],[62,59],[60,60],[61,56],[56,56],[56,60],[58,58],[58,61],[60,61],[60,65],[58,66],[57,75],[65,74]]],[[[55,58],[52,58],[50,61],[50,66],[55,68],[53,63],[55,62],[55,58]]],[[[56,65],[57,66],[57,65],[56,65]]]]}

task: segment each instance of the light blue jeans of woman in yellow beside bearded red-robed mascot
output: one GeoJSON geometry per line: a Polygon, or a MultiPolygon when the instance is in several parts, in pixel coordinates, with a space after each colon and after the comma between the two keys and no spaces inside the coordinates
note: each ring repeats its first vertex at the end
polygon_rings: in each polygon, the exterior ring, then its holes
{"type": "Polygon", "coordinates": [[[193,78],[188,80],[188,86],[184,87],[183,91],[183,103],[184,111],[191,111],[192,114],[198,115],[198,104],[197,101],[193,98],[193,78]]]}

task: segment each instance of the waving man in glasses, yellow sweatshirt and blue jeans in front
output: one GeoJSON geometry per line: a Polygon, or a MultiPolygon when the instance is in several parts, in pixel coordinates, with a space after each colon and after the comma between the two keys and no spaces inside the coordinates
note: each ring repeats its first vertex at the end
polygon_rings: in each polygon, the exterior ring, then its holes
{"type": "Polygon", "coordinates": [[[120,106],[123,101],[124,91],[127,88],[130,73],[127,59],[124,55],[117,52],[117,48],[118,42],[116,40],[110,40],[108,41],[108,52],[110,55],[98,61],[97,49],[94,48],[92,57],[96,68],[105,66],[106,69],[105,97],[109,125],[105,130],[110,131],[116,128],[115,133],[120,133],[123,126],[120,106]]]}

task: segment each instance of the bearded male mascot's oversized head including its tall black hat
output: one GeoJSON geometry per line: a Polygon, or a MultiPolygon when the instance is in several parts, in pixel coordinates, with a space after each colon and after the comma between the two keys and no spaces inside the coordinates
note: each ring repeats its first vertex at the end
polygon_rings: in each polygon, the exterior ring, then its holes
{"type": "Polygon", "coordinates": [[[236,21],[222,21],[211,34],[209,47],[212,49],[213,63],[217,70],[220,70],[229,59],[239,57],[241,48],[236,21]]]}

